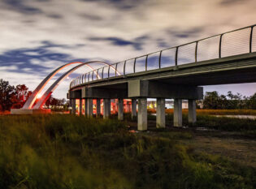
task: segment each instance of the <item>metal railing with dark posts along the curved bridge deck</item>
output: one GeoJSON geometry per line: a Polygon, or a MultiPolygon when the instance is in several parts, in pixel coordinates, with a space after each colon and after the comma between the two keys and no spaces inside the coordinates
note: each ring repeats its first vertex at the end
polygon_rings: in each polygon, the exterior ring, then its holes
{"type": "MultiPolygon", "coordinates": [[[[219,49],[218,49],[219,52],[218,52],[218,57],[216,57],[216,58],[223,58],[222,49],[223,49],[223,45],[225,45],[225,44],[223,44],[223,37],[225,35],[229,34],[229,33],[245,30],[245,29],[248,29],[248,28],[250,28],[250,31],[249,31],[249,52],[248,53],[252,53],[252,51],[253,51],[253,49],[252,49],[253,48],[253,42],[254,42],[253,41],[254,40],[253,39],[254,38],[254,27],[255,26],[256,26],[256,24],[250,25],[250,26],[247,26],[247,27],[244,27],[244,28],[238,28],[238,29],[235,29],[235,30],[232,30],[232,31],[229,31],[229,32],[223,32],[221,34],[217,34],[217,35],[214,35],[214,36],[211,36],[211,37],[206,37],[206,38],[203,38],[201,40],[185,43],[183,45],[176,45],[176,46],[173,46],[173,47],[170,47],[170,48],[167,48],[167,49],[162,49],[162,50],[155,51],[155,52],[150,53],[150,54],[144,54],[144,55],[138,56],[136,58],[129,58],[129,59],[126,59],[126,60],[124,60],[122,62],[116,62],[116,63],[110,64],[110,65],[107,65],[106,67],[100,67],[100,68],[98,68],[96,70],[93,70],[93,71],[97,71],[96,80],[98,80],[98,79],[109,79],[110,77],[113,77],[113,76],[110,75],[110,69],[115,67],[115,76],[114,77],[119,76],[119,75],[116,75],[116,73],[118,72],[118,64],[119,63],[124,63],[124,66],[123,66],[123,76],[128,75],[128,74],[132,74],[132,73],[137,73],[139,71],[136,71],[136,69],[137,69],[136,67],[137,67],[137,65],[139,65],[139,63],[141,63],[141,62],[137,62],[137,59],[138,58],[144,58],[144,57],[145,57],[145,71],[148,71],[149,70],[149,67],[148,67],[149,66],[149,56],[152,55],[152,54],[158,54],[158,67],[155,67],[154,69],[160,69],[160,68],[163,68],[163,65],[162,65],[163,52],[165,52],[167,50],[170,50],[170,49],[175,49],[175,51],[176,51],[175,52],[175,57],[173,58],[173,60],[175,61],[175,65],[174,66],[179,66],[179,65],[183,64],[183,63],[179,63],[180,50],[182,49],[180,47],[184,47],[184,46],[192,45],[192,44],[195,44],[194,51],[193,51],[194,52],[194,58],[192,58],[193,62],[200,62],[200,61],[198,61],[198,44],[200,44],[201,41],[206,41],[206,40],[209,40],[209,39],[213,39],[215,37],[219,37],[219,39],[218,39],[219,40],[219,49]],[[131,60],[134,60],[134,62],[133,62],[133,69],[132,69],[132,71],[130,71],[130,73],[128,73],[127,62],[131,61],[131,60]],[[98,71],[100,69],[102,69],[102,76],[101,76],[101,78],[98,78],[98,75],[99,75],[98,71]],[[104,70],[105,69],[107,69],[107,76],[106,77],[104,77],[104,70]]],[[[255,38],[255,43],[256,43],[256,38],[255,38]]],[[[206,59],[206,60],[210,60],[210,59],[211,58],[206,59]]],[[[192,62],[187,62],[187,63],[192,63],[192,62]]],[[[93,71],[90,71],[90,72],[93,73],[93,71]]],[[[89,72],[89,75],[90,75],[90,72],[89,72]]],[[[93,75],[92,75],[92,79],[91,80],[92,81],[94,80],[93,79],[93,75]]],[[[80,82],[77,82],[77,81],[73,82],[73,81],[72,81],[72,84],[70,85],[72,87],[80,84],[80,82]]],[[[89,78],[88,78],[88,81],[90,82],[89,78]]],[[[86,79],[85,79],[85,83],[87,83],[86,79]]],[[[84,84],[83,79],[82,79],[81,84],[84,84]]]]}

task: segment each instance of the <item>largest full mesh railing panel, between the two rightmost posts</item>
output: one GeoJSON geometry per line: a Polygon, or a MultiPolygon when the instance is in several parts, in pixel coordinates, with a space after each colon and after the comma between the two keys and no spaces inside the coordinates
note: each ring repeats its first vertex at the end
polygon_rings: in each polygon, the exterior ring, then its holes
{"type": "Polygon", "coordinates": [[[249,53],[250,28],[223,34],[221,57],[249,53]]]}

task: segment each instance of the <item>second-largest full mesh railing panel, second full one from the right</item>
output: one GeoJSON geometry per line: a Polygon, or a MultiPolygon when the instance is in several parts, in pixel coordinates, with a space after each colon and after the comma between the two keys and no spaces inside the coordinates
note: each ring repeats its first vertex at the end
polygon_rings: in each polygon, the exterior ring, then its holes
{"type": "Polygon", "coordinates": [[[219,58],[219,36],[198,41],[197,62],[219,58]]]}

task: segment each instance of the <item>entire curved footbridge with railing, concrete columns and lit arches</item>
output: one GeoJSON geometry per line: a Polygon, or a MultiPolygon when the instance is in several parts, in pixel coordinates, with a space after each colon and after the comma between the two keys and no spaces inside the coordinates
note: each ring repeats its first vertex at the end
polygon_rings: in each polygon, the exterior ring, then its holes
{"type": "MultiPolygon", "coordinates": [[[[118,118],[124,119],[124,99],[132,99],[132,118],[137,116],[139,131],[147,129],[147,98],[157,99],[156,127],[165,127],[165,99],[174,99],[174,126],[182,126],[182,100],[189,100],[189,122],[196,122],[196,100],[202,99],[203,88],[212,84],[256,82],[256,25],[224,32],[213,37],[130,58],[93,69],[73,79],[68,98],[72,114],[76,100],[85,115],[111,114],[111,99],[118,99],[118,118]],[[100,103],[103,101],[103,110],[100,103]],[[138,106],[138,107],[137,107],[138,106]]],[[[97,61],[95,61],[97,62],[97,61]]],[[[80,62],[77,67],[93,62],[80,62]]],[[[67,71],[46,91],[37,103],[35,98],[56,72],[53,71],[33,92],[24,110],[41,110],[51,92],[76,67],[67,71]],[[36,103],[36,105],[35,105],[36,103]]]]}

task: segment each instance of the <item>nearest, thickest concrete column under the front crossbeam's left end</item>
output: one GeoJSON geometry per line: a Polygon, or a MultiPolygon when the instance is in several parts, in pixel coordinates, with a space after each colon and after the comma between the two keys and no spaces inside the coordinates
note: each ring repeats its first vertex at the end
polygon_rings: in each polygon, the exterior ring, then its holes
{"type": "Polygon", "coordinates": [[[138,131],[145,131],[148,128],[147,104],[146,98],[138,98],[138,131]]]}

